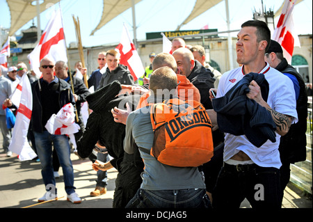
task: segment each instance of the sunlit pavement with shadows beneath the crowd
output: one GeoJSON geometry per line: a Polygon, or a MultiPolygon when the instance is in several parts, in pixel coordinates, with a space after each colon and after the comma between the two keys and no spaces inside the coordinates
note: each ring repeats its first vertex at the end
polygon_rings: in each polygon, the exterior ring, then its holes
{"type": "MultiPolygon", "coordinates": [[[[0,144],[2,138],[0,134],[0,144]]],[[[74,168],[74,187],[81,198],[80,204],[66,200],[62,168],[58,171],[60,178],[56,179],[58,200],[38,205],[38,198],[45,194],[39,162],[19,161],[17,154],[7,157],[0,150],[0,208],[112,208],[115,178],[118,172],[113,168],[108,171],[108,186],[106,194],[91,197],[95,189],[96,171],[91,167],[89,159],[79,159],[71,154],[74,168]]],[[[311,196],[312,197],[312,196],[311,196]]],[[[250,208],[247,200],[241,208],[250,208]]],[[[312,198],[307,198],[294,184],[289,183],[284,191],[282,208],[312,208],[312,198]]]]}

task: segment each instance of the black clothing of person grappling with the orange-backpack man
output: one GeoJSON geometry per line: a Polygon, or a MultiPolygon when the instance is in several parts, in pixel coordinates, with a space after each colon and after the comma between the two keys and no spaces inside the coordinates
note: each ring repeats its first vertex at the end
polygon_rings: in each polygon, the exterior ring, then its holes
{"type": "Polygon", "coordinates": [[[100,88],[88,95],[87,101],[93,113],[90,114],[86,131],[77,143],[77,151],[80,157],[88,157],[93,151],[95,143],[106,146],[112,159],[111,164],[118,170],[115,180],[113,208],[124,208],[129,200],[136,195],[140,188],[141,173],[143,172],[143,160],[138,149],[134,154],[124,151],[123,140],[125,137],[125,125],[114,122],[111,109],[115,106],[126,109],[126,102],[134,110],[139,102],[140,95],[120,95],[120,83],[113,83],[100,88]]]}

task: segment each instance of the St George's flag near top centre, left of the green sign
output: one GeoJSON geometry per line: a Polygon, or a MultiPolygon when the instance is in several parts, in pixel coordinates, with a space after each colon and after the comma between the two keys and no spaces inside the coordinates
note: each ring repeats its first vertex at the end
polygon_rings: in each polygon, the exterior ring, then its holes
{"type": "Polygon", "coordinates": [[[125,24],[123,24],[122,38],[120,44],[115,48],[120,53],[120,64],[126,65],[134,81],[145,74],[141,57],[136,51],[136,47],[129,36],[129,32],[125,24]]]}

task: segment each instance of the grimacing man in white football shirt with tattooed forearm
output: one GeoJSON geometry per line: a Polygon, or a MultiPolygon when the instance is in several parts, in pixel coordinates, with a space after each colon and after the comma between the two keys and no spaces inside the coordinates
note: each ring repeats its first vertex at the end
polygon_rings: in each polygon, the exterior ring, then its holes
{"type": "Polygon", "coordinates": [[[287,134],[298,116],[291,80],[264,61],[270,39],[271,31],[265,22],[251,20],[241,25],[236,61],[242,66],[222,75],[216,97],[223,97],[245,74],[263,73],[268,82],[267,100],[262,98],[261,88],[254,80],[246,96],[271,113],[277,127],[276,141],[267,140],[257,148],[246,135],[225,134],[224,164],[213,191],[214,208],[239,208],[244,198],[255,208],[281,207],[278,146],[280,136],[287,134]]]}

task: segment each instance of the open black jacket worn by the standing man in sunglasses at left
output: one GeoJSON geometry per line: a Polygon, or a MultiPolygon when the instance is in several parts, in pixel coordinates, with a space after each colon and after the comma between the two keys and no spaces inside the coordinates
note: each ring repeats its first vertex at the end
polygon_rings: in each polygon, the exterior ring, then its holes
{"type": "MultiPolygon", "coordinates": [[[[66,81],[63,79],[59,80],[59,86],[56,90],[58,93],[58,104],[55,104],[57,106],[58,110],[60,110],[65,104],[74,102],[74,97],[72,95],[72,90],[70,88],[70,84],[67,84],[66,81]]],[[[42,89],[42,81],[44,81],[42,78],[38,79],[38,81],[34,81],[33,84],[31,84],[31,90],[33,93],[33,111],[31,113],[31,127],[33,131],[35,132],[43,132],[45,130],[45,125],[47,122],[42,122],[42,104],[41,100],[45,99],[42,98],[40,95],[40,91],[42,89]]]]}

